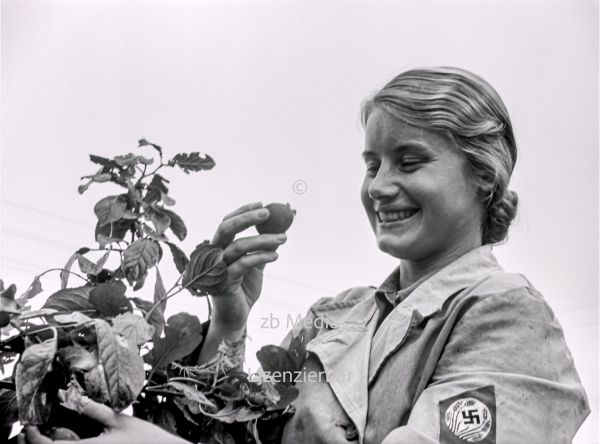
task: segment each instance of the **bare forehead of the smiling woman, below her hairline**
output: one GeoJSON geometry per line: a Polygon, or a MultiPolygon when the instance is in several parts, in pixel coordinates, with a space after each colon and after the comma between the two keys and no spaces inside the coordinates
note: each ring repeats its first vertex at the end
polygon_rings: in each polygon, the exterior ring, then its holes
{"type": "Polygon", "coordinates": [[[451,141],[442,134],[409,125],[396,119],[386,111],[375,108],[365,127],[367,150],[393,148],[405,144],[426,145],[434,150],[448,148],[451,141]]]}

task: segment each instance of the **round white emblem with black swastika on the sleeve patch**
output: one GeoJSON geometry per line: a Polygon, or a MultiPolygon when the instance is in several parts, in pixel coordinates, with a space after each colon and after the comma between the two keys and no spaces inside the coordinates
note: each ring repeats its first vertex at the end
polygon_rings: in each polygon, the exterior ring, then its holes
{"type": "Polygon", "coordinates": [[[485,439],[492,428],[492,415],[487,406],[475,398],[461,398],[446,409],[448,429],[466,442],[485,439]]]}

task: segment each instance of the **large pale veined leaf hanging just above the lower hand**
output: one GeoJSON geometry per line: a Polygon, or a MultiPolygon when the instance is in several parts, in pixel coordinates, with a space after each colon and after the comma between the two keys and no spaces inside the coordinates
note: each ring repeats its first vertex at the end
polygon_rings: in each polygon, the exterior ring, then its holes
{"type": "Polygon", "coordinates": [[[145,380],[144,362],[140,355],[121,342],[114,330],[101,319],[94,320],[98,355],[104,375],[110,404],[114,410],[128,407],[142,391],[145,380]]]}

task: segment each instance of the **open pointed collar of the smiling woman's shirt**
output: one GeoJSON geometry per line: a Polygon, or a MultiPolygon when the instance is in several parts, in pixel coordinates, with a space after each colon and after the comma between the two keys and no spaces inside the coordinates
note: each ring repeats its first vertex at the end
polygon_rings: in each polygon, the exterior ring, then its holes
{"type": "Polygon", "coordinates": [[[400,288],[398,265],[376,289],[375,301],[385,311],[406,300],[417,308],[433,312],[452,294],[475,284],[494,271],[502,271],[502,267],[493,255],[491,245],[469,250],[433,275],[404,289],[400,288]]]}

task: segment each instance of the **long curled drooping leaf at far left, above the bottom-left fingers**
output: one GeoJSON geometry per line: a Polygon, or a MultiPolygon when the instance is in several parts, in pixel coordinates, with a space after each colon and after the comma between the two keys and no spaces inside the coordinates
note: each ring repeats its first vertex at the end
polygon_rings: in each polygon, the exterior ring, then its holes
{"type": "Polygon", "coordinates": [[[19,419],[23,425],[43,424],[50,415],[52,400],[44,387],[44,378],[56,354],[57,333],[39,344],[30,345],[17,363],[15,382],[19,419]]]}

